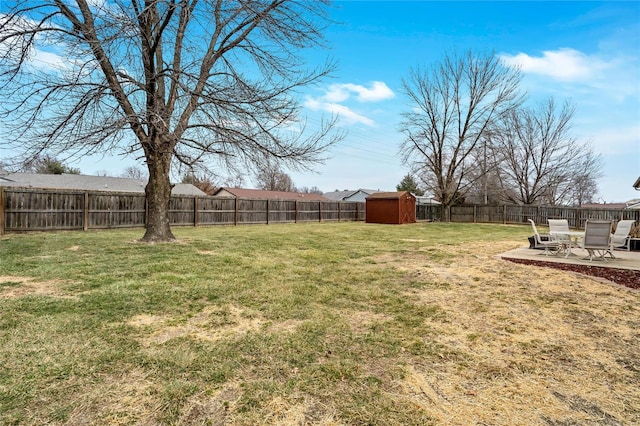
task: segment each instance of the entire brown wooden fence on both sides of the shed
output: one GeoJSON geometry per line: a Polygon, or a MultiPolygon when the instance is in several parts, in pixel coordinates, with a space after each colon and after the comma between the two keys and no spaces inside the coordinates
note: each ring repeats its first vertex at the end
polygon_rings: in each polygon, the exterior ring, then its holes
{"type": "MultiPolygon", "coordinates": [[[[171,197],[172,225],[240,225],[250,223],[296,223],[364,221],[365,203],[346,201],[263,200],[244,198],[171,197]]],[[[444,220],[441,205],[416,206],[416,219],[444,220]]],[[[21,231],[89,230],[144,227],[147,216],[144,194],[61,191],[0,187],[0,234],[21,231]]],[[[633,219],[640,210],[582,209],[558,206],[453,206],[452,222],[528,224],[533,219],[567,219],[582,229],[588,219],[633,219]]]]}

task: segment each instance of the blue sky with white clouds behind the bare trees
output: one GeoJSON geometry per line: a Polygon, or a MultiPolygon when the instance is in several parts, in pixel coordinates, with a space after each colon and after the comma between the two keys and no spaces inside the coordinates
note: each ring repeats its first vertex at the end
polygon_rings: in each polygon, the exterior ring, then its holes
{"type": "MultiPolygon", "coordinates": [[[[553,96],[576,107],[573,134],[604,160],[600,201],[640,198],[640,2],[337,1],[326,32],[338,69],[304,94],[309,123],[339,114],[347,137],[315,173],[289,171],[298,187],[395,190],[407,173],[398,156],[402,79],[452,50],[495,52],[519,64],[528,102],[553,96]]],[[[85,174],[122,173],[133,159],[78,161],[85,174]]],[[[245,186],[251,186],[250,179],[245,186]]]]}

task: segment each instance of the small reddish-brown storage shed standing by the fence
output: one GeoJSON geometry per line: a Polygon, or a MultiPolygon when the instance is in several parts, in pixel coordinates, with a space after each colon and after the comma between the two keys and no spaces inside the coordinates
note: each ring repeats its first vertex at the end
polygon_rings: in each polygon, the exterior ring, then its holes
{"type": "Polygon", "coordinates": [[[366,222],[403,224],[416,221],[416,197],[410,192],[377,192],[366,198],[366,222]]]}

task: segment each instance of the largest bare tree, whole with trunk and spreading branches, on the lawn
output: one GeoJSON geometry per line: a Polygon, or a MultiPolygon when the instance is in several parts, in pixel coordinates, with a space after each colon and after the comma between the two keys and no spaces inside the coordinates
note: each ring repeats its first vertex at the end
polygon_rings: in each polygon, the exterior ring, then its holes
{"type": "Polygon", "coordinates": [[[175,162],[310,167],[335,142],[299,115],[328,0],[17,0],[0,14],[0,117],[25,156],[124,151],[146,160],[143,241],[170,241],[175,162]],[[64,61],[43,67],[42,52],[64,61]],[[295,125],[298,125],[295,128],[295,125]],[[208,157],[208,158],[207,158],[208,157]]]}

